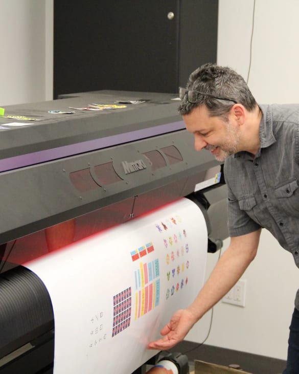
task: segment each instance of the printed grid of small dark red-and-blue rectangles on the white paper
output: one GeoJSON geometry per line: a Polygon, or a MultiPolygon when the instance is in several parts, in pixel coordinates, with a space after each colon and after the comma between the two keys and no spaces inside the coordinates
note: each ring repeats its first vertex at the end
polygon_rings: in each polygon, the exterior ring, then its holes
{"type": "Polygon", "coordinates": [[[118,335],[131,323],[132,291],[131,287],[113,296],[112,337],[118,335]]]}

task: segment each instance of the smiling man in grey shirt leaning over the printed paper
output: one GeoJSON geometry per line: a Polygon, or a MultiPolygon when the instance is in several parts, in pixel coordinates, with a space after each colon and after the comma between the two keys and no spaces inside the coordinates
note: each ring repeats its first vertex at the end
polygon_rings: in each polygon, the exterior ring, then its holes
{"type": "MultiPolygon", "coordinates": [[[[185,310],[177,311],[152,349],[169,349],[238,281],[255,258],[266,228],[299,267],[299,105],[258,105],[244,79],[204,64],[180,89],[179,112],[195,149],[224,161],[229,247],[185,310]]],[[[299,292],[290,326],[287,368],[299,373],[299,292]]]]}

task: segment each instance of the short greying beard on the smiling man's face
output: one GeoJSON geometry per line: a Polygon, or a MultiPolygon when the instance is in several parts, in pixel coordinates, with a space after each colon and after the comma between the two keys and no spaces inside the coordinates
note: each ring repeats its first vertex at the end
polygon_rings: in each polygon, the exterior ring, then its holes
{"type": "Polygon", "coordinates": [[[240,133],[238,129],[231,125],[231,123],[225,123],[226,139],[219,145],[206,145],[204,149],[214,150],[218,148],[218,155],[215,155],[217,161],[224,161],[228,156],[234,155],[238,151],[238,144],[240,140],[240,133]]]}

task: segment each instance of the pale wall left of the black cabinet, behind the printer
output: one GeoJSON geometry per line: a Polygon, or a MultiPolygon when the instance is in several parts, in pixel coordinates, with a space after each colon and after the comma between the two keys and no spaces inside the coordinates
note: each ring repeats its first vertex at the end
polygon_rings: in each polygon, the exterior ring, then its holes
{"type": "Polygon", "coordinates": [[[52,99],[53,0],[0,0],[0,106],[52,99]]]}

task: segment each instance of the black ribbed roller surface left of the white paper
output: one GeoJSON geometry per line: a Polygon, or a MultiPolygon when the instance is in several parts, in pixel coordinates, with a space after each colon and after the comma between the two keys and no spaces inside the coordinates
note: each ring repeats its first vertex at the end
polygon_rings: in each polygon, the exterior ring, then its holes
{"type": "Polygon", "coordinates": [[[0,274],[0,305],[0,358],[54,328],[47,289],[22,266],[0,274]]]}

